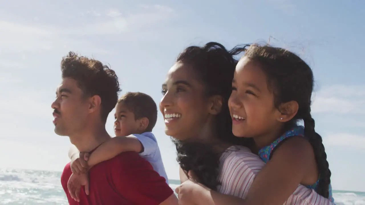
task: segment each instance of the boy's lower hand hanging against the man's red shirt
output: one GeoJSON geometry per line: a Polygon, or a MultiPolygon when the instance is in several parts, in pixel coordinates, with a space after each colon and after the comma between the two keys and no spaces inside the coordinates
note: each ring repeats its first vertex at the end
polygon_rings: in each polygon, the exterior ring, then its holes
{"type": "Polygon", "coordinates": [[[89,195],[89,177],[88,174],[71,174],[69,181],[67,182],[67,188],[71,197],[80,202],[81,186],[85,186],[85,193],[89,195]]]}

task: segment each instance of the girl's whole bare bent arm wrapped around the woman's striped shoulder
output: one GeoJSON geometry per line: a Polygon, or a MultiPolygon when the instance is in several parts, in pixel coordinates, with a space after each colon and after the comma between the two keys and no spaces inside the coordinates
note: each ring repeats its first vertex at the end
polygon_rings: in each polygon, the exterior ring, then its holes
{"type": "Polygon", "coordinates": [[[199,184],[194,186],[192,198],[198,205],[282,205],[294,193],[307,170],[312,168],[313,159],[309,142],[302,137],[293,137],[277,148],[272,159],[254,177],[245,200],[199,184]]]}

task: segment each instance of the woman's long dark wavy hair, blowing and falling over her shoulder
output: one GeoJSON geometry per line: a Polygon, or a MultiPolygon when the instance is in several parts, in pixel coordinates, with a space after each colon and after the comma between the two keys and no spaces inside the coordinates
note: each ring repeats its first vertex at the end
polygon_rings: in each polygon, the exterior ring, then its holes
{"type": "MultiPolygon", "coordinates": [[[[237,138],[232,133],[232,119],[228,109],[228,98],[232,92],[232,80],[237,65],[234,55],[243,51],[235,47],[228,51],[223,45],[209,42],[202,47],[187,47],[176,62],[188,63],[195,71],[197,78],[204,85],[207,97],[223,97],[222,111],[216,116],[212,125],[218,137],[233,144],[245,144],[245,139],[237,138]]],[[[219,158],[221,153],[213,151],[212,146],[198,142],[183,142],[173,139],[177,150],[177,161],[184,171],[192,170],[205,186],[216,190],[218,181],[219,158]]]]}

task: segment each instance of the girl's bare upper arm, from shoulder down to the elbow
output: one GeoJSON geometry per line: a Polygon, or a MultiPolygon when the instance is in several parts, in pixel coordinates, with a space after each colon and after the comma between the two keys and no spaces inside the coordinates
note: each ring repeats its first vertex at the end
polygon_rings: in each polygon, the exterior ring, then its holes
{"type": "Polygon", "coordinates": [[[308,140],[301,136],[286,140],[257,174],[245,204],[284,204],[305,174],[314,169],[313,160],[315,156],[308,140]]]}

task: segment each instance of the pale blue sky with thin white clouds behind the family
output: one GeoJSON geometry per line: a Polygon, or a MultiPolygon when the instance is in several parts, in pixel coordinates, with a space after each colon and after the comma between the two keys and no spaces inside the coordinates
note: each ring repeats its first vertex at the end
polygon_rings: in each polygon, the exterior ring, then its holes
{"type": "MultiPolygon", "coordinates": [[[[230,49],[270,39],[314,71],[312,115],[333,188],[365,191],[364,6],[360,0],[0,1],[0,167],[62,171],[69,162],[69,138],[54,133],[51,103],[70,50],[109,64],[121,94],[144,92],[158,103],[185,47],[216,41],[230,49]]],[[[110,115],[111,135],[113,121],[110,115]]],[[[178,179],[160,113],[154,134],[168,177],[178,179]]]]}

